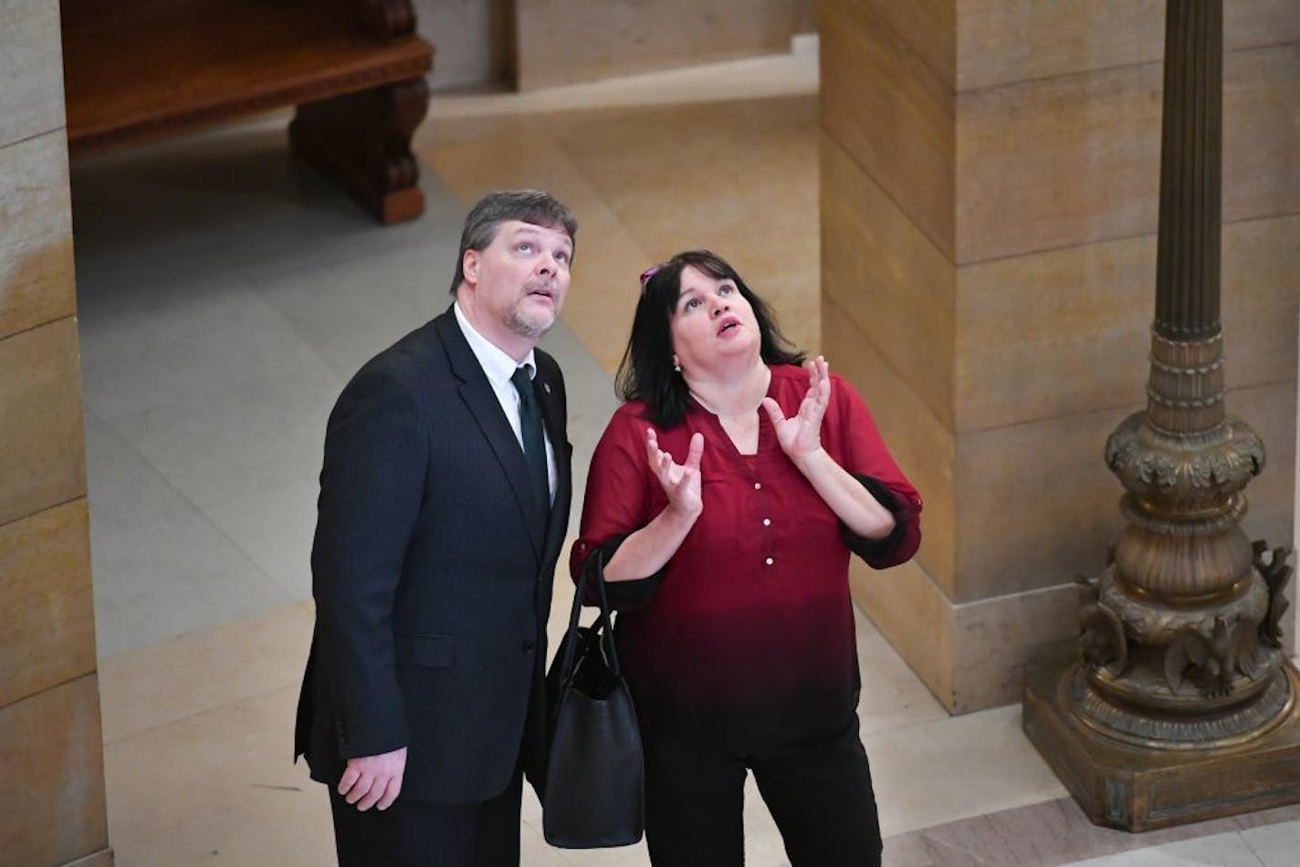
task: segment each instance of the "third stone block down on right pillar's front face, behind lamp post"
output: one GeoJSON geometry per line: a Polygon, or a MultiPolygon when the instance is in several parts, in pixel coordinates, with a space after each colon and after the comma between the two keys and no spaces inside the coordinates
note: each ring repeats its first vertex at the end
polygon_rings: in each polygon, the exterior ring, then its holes
{"type": "MultiPolygon", "coordinates": [[[[1222,248],[1228,385],[1292,377],[1300,217],[1230,224],[1222,248]]],[[[967,265],[957,281],[958,432],[1145,399],[1154,235],[967,265]]]]}

